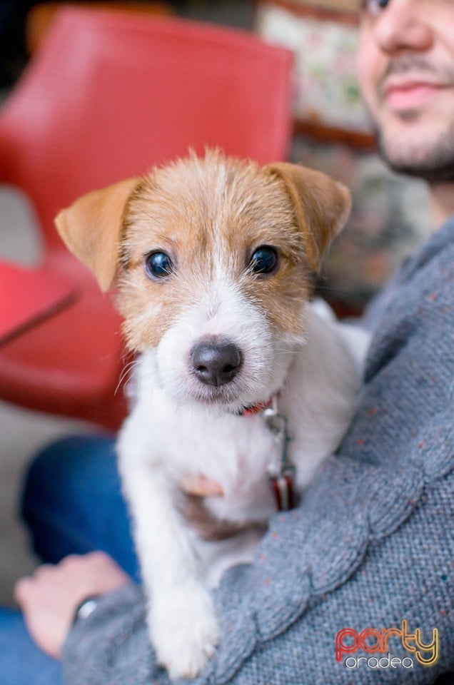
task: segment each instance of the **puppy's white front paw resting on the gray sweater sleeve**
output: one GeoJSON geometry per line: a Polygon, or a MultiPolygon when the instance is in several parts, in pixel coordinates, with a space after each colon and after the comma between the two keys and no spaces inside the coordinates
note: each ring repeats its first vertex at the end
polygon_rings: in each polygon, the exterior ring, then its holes
{"type": "Polygon", "coordinates": [[[195,678],[216,650],[218,624],[213,601],[197,584],[153,597],[149,626],[158,662],[171,679],[195,678]]]}

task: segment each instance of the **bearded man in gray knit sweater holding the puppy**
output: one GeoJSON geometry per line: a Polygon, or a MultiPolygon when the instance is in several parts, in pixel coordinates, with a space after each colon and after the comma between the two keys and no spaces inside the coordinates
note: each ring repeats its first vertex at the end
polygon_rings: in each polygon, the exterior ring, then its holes
{"type": "MultiPolygon", "coordinates": [[[[428,181],[444,225],[372,308],[363,396],[338,454],[276,517],[257,562],[224,577],[222,640],[198,683],[423,684],[454,669],[453,2],[365,1],[358,73],[383,156],[428,181]]],[[[168,683],[141,592],[110,557],[41,567],[16,597],[36,642],[63,653],[69,685],[168,683]]]]}

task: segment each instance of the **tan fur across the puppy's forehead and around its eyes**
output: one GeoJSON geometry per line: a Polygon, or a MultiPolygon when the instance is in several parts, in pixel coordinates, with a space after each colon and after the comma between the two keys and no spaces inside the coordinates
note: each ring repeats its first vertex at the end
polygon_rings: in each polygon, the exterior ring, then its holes
{"type": "Polygon", "coordinates": [[[220,268],[273,327],[301,333],[301,303],[310,292],[301,228],[283,181],[255,163],[210,152],[153,171],[128,202],[121,265],[117,302],[133,350],[156,346],[220,268]],[[276,273],[248,272],[260,245],[277,248],[276,273]],[[144,259],[153,250],[170,256],[175,270],[168,277],[146,275],[144,259]]]}

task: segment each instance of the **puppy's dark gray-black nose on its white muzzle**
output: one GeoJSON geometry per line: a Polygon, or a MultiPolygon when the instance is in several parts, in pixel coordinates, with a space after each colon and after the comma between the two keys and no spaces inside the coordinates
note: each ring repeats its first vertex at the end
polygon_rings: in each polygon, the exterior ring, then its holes
{"type": "Polygon", "coordinates": [[[242,355],[233,342],[198,342],[191,350],[191,364],[206,385],[225,385],[236,376],[242,355]]]}

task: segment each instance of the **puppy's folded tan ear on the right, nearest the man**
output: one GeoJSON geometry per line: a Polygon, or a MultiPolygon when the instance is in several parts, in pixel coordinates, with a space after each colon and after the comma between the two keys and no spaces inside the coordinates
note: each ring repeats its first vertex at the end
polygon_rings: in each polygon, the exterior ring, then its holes
{"type": "Polygon", "coordinates": [[[297,164],[277,162],[268,164],[265,170],[285,183],[303,233],[309,265],[317,271],[323,253],[348,218],[350,191],[326,174],[297,164]]]}

